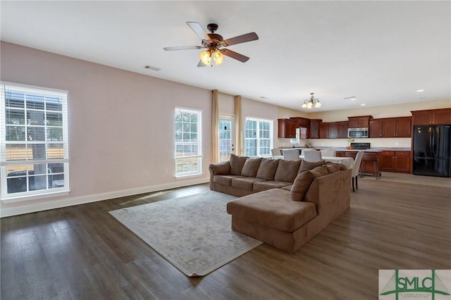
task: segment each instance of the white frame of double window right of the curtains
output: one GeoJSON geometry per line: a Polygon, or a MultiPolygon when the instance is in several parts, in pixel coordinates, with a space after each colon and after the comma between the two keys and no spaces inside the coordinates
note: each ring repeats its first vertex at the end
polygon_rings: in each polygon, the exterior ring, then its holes
{"type": "MultiPolygon", "coordinates": [[[[245,151],[245,156],[256,156],[256,157],[268,157],[271,156],[271,149],[273,148],[273,137],[274,137],[274,132],[273,132],[273,126],[274,126],[274,120],[268,120],[268,119],[264,119],[264,118],[254,118],[254,117],[246,117],[245,118],[245,134],[244,134],[244,138],[245,138],[245,146],[244,146],[244,151],[245,151]],[[258,132],[257,137],[253,138],[253,137],[247,137],[248,135],[248,129],[247,128],[247,121],[253,121],[256,122],[256,127],[252,128],[254,130],[256,130],[256,132],[258,132]],[[261,123],[268,123],[269,128],[266,129],[262,129],[261,128],[261,123]],[[265,131],[269,133],[269,137],[261,137],[261,133],[265,131]],[[250,154],[249,149],[248,149],[248,141],[250,140],[254,140],[255,142],[255,155],[254,154],[250,154]],[[261,142],[267,140],[269,142],[269,146],[268,147],[262,147],[261,146],[261,142]],[[268,149],[268,153],[261,153],[261,149],[265,148],[268,149]]],[[[252,148],[254,149],[254,148],[252,148]]]]}

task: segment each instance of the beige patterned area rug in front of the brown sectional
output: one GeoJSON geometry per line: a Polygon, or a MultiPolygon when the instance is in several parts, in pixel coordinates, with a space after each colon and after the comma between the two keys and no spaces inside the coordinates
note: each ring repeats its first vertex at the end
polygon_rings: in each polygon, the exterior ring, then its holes
{"type": "Polygon", "coordinates": [[[110,213],[185,275],[204,276],[262,244],[230,229],[233,199],[210,191],[110,213]]]}

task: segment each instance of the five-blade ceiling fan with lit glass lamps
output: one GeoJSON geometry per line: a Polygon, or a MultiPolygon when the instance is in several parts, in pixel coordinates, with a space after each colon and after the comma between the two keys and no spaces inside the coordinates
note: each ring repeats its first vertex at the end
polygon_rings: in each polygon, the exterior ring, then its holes
{"type": "Polygon", "coordinates": [[[206,49],[206,51],[199,54],[200,61],[197,64],[198,67],[204,67],[206,65],[213,66],[213,62],[216,65],[220,65],[224,60],[223,55],[245,63],[249,60],[249,57],[226,49],[226,47],[259,39],[257,33],[255,32],[249,32],[245,35],[238,35],[236,37],[231,37],[230,39],[223,39],[221,35],[214,33],[218,30],[218,25],[214,23],[206,25],[206,28],[210,33],[205,32],[205,30],[202,29],[202,26],[197,22],[187,22],[187,25],[190,26],[190,28],[202,39],[202,46],[174,46],[164,47],[163,49],[166,51],[206,49]]]}

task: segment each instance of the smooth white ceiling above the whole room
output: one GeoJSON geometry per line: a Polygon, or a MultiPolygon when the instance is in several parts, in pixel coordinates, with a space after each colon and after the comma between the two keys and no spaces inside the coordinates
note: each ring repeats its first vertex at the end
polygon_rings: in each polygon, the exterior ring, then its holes
{"type": "Polygon", "coordinates": [[[315,92],[330,111],[451,99],[450,15],[451,1],[1,1],[1,39],[298,110],[315,92]],[[246,63],[198,68],[202,50],[163,51],[201,44],[187,21],[259,40],[228,47],[246,63]]]}

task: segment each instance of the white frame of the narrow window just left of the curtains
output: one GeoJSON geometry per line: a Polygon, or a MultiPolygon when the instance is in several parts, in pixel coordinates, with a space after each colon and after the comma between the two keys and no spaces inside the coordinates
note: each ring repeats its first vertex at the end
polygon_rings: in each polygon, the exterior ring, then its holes
{"type": "MultiPolygon", "coordinates": [[[[188,124],[191,125],[192,124],[191,121],[188,124]]],[[[202,175],[202,157],[203,157],[202,156],[202,110],[194,109],[194,108],[175,107],[175,110],[174,110],[175,177],[178,178],[178,177],[189,177],[189,176],[202,175]],[[197,136],[197,139],[196,139],[197,142],[195,142],[195,143],[194,142],[184,142],[184,139],[182,140],[182,142],[178,142],[178,139],[177,139],[177,135],[178,135],[177,115],[178,115],[178,113],[182,113],[182,114],[189,113],[192,115],[197,115],[196,132],[191,131],[191,129],[188,132],[183,131],[183,123],[181,125],[182,131],[180,132],[180,135],[182,135],[182,137],[184,136],[184,134],[189,134],[190,137],[191,137],[191,135],[195,134],[197,136]],[[179,156],[178,155],[178,146],[191,146],[191,147],[195,146],[195,147],[197,147],[197,154],[179,156]],[[190,163],[180,163],[180,161],[184,161],[186,159],[188,159],[188,160],[192,159],[191,165],[197,164],[197,168],[193,170],[192,167],[190,167],[190,170],[178,171],[179,167],[181,167],[183,165],[190,165],[190,163]]]]}

